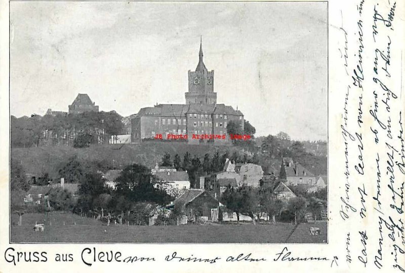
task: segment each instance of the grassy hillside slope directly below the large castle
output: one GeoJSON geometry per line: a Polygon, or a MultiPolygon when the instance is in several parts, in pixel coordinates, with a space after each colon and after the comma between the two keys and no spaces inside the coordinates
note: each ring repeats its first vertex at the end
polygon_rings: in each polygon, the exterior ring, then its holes
{"type": "Polygon", "coordinates": [[[113,145],[92,145],[88,148],[73,148],[70,146],[42,146],[30,148],[12,148],[11,158],[20,162],[26,173],[43,174],[49,173],[50,176],[57,175],[61,165],[66,164],[72,156],[77,156],[79,160],[94,161],[105,160],[110,166],[122,168],[123,166],[134,163],[141,163],[153,168],[156,162],[168,152],[172,159],[178,153],[183,159],[183,155],[189,152],[191,155],[197,155],[200,158],[206,153],[220,154],[228,151],[238,151],[233,146],[213,146],[213,145],[189,145],[176,142],[144,142],[141,144],[113,144],[113,145]]]}

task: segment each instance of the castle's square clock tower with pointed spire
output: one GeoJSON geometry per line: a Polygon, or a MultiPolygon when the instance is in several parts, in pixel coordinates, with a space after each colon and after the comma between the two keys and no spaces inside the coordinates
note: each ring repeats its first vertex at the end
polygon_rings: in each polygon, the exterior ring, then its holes
{"type": "Polygon", "coordinates": [[[203,43],[200,38],[198,65],[194,72],[188,71],[188,92],[185,93],[187,104],[217,103],[217,93],[214,92],[214,70],[208,71],[203,56],[203,43]]]}

